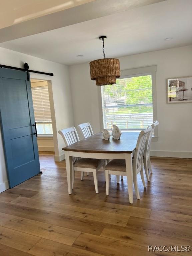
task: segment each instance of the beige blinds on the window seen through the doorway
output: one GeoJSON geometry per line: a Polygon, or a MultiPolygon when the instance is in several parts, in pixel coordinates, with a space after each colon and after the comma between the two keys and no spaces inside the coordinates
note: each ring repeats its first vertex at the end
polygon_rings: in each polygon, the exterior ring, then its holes
{"type": "Polygon", "coordinates": [[[33,108],[35,122],[51,122],[48,86],[32,87],[33,108]]]}

